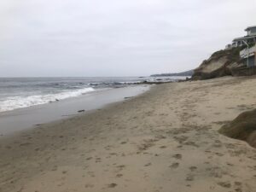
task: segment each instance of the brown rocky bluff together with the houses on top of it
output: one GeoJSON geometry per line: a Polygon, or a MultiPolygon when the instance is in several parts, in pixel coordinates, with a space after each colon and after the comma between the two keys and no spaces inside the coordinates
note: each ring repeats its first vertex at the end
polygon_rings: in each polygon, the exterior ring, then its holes
{"type": "Polygon", "coordinates": [[[256,74],[256,26],[245,30],[247,36],[235,38],[226,49],[218,50],[195,68],[192,79],[213,79],[226,75],[256,74]]]}

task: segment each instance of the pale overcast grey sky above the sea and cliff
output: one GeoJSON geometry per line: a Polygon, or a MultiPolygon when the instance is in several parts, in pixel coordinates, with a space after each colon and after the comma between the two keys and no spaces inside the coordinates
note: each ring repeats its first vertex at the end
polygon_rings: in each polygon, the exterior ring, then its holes
{"type": "Polygon", "coordinates": [[[256,25],[255,0],[3,0],[0,77],[197,67],[256,25]]]}

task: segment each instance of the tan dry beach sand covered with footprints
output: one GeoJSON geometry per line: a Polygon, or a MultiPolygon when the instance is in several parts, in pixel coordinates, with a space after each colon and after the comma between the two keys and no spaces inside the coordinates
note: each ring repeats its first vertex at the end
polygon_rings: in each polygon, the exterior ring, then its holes
{"type": "Polygon", "coordinates": [[[160,84],[0,139],[1,192],[256,191],[256,150],[218,129],[256,108],[256,78],[160,84]]]}

